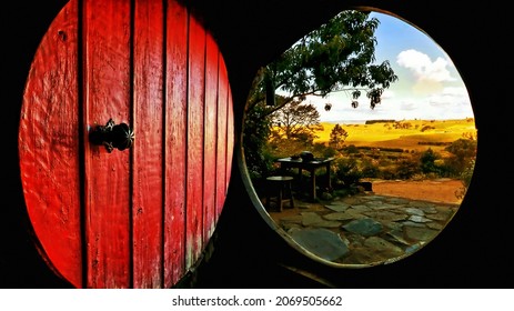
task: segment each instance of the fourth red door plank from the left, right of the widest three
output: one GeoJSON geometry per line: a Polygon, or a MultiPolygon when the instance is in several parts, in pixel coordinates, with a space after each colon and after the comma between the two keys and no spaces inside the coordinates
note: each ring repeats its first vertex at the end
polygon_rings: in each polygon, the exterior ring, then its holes
{"type": "Polygon", "coordinates": [[[169,0],[165,13],[164,287],[185,273],[188,11],[169,0]]]}

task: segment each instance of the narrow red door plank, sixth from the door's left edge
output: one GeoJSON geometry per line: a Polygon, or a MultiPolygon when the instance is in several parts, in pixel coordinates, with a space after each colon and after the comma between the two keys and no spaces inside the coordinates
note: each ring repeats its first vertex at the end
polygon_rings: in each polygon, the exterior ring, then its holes
{"type": "Polygon", "coordinates": [[[210,33],[206,34],[205,54],[205,118],[203,161],[203,241],[209,241],[214,232],[216,182],[216,123],[218,123],[218,46],[210,33]]]}

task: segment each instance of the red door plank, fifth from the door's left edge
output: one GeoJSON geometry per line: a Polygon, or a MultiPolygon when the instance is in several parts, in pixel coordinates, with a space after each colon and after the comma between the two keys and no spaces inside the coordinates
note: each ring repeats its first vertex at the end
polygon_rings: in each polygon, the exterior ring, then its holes
{"type": "Polygon", "coordinates": [[[188,52],[185,268],[189,269],[200,258],[203,244],[203,104],[205,88],[205,30],[192,14],[189,17],[188,52]]]}

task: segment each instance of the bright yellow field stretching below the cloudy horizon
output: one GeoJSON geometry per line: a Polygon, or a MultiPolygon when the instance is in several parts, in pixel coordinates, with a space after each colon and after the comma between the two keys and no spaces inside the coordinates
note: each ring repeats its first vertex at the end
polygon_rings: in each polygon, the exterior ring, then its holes
{"type": "MultiPolygon", "coordinates": [[[[420,142],[453,142],[465,134],[472,134],[476,139],[474,119],[462,120],[402,120],[401,124],[410,123],[409,128],[395,129],[394,122],[380,122],[373,124],[344,124],[340,126],[347,131],[349,137],[345,144],[356,147],[376,148],[401,148],[404,150],[426,150],[429,147],[434,151],[441,150],[444,146],[427,146],[420,142]],[[422,131],[422,129],[424,129],[422,131]]],[[[329,141],[330,133],[335,123],[322,123],[324,130],[318,132],[315,142],[329,141]]]]}

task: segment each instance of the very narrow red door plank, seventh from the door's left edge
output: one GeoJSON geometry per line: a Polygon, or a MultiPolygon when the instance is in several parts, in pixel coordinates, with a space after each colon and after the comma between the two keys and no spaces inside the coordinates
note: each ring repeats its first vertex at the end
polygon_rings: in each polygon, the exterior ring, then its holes
{"type": "Polygon", "coordinates": [[[220,215],[226,195],[226,124],[229,106],[229,77],[222,56],[219,58],[218,82],[218,165],[216,165],[216,214],[220,215]]]}

